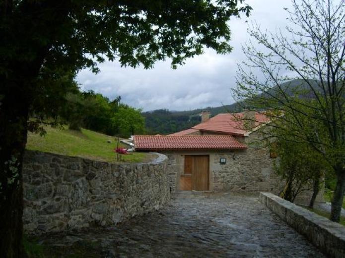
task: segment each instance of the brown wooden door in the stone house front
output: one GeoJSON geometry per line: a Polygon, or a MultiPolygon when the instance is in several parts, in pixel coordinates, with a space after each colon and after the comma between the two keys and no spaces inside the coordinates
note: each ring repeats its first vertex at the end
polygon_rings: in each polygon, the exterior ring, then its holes
{"type": "Polygon", "coordinates": [[[185,155],[185,171],[180,178],[180,190],[208,190],[208,155],[185,155]]]}

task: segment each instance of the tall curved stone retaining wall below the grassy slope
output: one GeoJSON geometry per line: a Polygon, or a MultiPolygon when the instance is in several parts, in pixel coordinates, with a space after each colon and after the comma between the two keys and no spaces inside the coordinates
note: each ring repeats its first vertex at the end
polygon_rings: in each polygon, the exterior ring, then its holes
{"type": "Polygon", "coordinates": [[[111,226],[160,208],[169,199],[166,159],[115,164],[27,151],[24,230],[40,234],[111,226]]]}

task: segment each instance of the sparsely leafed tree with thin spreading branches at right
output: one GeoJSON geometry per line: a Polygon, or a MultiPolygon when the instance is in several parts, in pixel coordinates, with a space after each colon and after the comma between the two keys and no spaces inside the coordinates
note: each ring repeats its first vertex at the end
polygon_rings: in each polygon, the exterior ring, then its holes
{"type": "Polygon", "coordinates": [[[331,220],[339,222],[345,192],[344,1],[292,3],[288,37],[249,27],[260,50],[252,41],[243,47],[248,62],[239,65],[235,96],[253,109],[270,110],[271,120],[284,121],[291,136],[332,165],[337,185],[331,220]]]}

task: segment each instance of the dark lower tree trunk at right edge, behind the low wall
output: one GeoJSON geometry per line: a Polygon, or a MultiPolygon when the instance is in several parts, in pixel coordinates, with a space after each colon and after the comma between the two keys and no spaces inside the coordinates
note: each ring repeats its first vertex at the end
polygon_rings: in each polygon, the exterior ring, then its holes
{"type": "Polygon", "coordinates": [[[343,206],[343,199],[345,193],[345,169],[344,165],[338,166],[337,173],[337,185],[334,191],[332,208],[331,208],[331,220],[335,222],[340,221],[340,215],[343,206]]]}

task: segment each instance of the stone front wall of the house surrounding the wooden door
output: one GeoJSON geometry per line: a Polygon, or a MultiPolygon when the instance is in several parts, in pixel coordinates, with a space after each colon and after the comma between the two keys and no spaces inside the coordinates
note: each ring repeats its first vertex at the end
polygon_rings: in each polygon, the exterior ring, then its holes
{"type": "Polygon", "coordinates": [[[169,183],[172,192],[179,190],[179,178],[184,173],[185,155],[209,155],[209,190],[278,193],[283,182],[273,173],[268,152],[263,149],[236,151],[175,151],[168,156],[169,183]],[[220,158],[226,164],[220,164],[220,158]]]}

